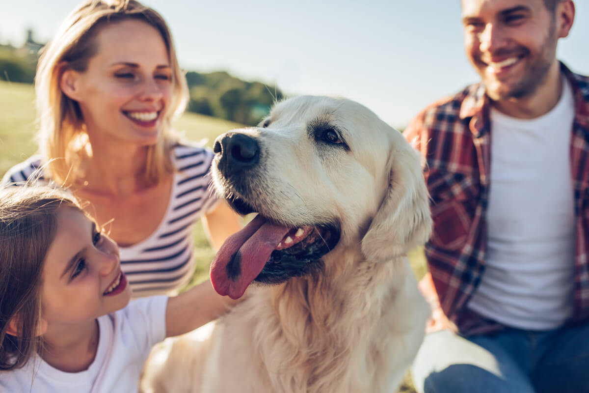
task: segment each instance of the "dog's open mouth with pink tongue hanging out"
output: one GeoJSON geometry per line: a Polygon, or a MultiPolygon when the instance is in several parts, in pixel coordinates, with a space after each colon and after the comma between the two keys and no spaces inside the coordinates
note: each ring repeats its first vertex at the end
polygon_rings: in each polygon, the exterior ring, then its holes
{"type": "MultiPolygon", "coordinates": [[[[228,200],[241,214],[254,212],[241,199],[228,200]]],[[[211,263],[210,278],[220,295],[240,298],[252,281],[280,283],[306,275],[339,241],[333,224],[286,226],[258,214],[231,235],[211,263]]]]}

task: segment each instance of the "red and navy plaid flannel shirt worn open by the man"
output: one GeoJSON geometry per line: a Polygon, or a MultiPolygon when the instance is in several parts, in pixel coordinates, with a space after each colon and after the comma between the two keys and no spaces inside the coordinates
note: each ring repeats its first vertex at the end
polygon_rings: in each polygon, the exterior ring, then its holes
{"type": "MultiPolygon", "coordinates": [[[[589,317],[589,77],[573,74],[564,64],[561,72],[573,87],[575,101],[570,150],[575,209],[573,321],[580,321],[589,317]]],[[[504,328],[466,308],[485,270],[489,131],[489,98],[481,83],[429,106],[405,130],[409,143],[426,158],[423,173],[434,218],[434,232],[425,245],[429,274],[420,288],[434,308],[432,325],[457,328],[464,335],[504,328]]]]}

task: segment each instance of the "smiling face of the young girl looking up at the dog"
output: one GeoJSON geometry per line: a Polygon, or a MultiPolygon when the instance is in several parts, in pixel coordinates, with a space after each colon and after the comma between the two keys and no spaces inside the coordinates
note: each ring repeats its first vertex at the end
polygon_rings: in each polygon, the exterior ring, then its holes
{"type": "Polygon", "coordinates": [[[41,293],[42,319],[48,326],[92,321],[123,308],[131,298],[117,245],[74,207],[58,211],[41,293]]]}

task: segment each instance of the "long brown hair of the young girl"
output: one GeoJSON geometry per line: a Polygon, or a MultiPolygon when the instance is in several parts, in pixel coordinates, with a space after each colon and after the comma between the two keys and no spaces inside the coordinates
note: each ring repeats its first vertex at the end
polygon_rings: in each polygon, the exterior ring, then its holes
{"type": "Polygon", "coordinates": [[[47,186],[0,189],[0,370],[19,368],[41,350],[41,286],[45,256],[61,207],[80,204],[47,186]],[[17,335],[8,333],[15,318],[17,335]]]}

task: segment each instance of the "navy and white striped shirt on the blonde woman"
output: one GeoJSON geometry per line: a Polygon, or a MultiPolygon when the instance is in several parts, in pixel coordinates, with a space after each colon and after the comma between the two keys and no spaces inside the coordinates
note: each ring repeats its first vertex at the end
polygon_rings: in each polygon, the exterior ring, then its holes
{"type": "MultiPolygon", "coordinates": [[[[120,247],[121,268],[134,296],[170,294],[190,280],[194,270],[193,225],[217,202],[210,188],[209,169],[214,154],[202,147],[173,149],[174,181],[166,214],[157,229],[135,245],[120,247]]],[[[22,183],[37,177],[48,183],[33,156],[9,169],[2,183],[22,183]]]]}

